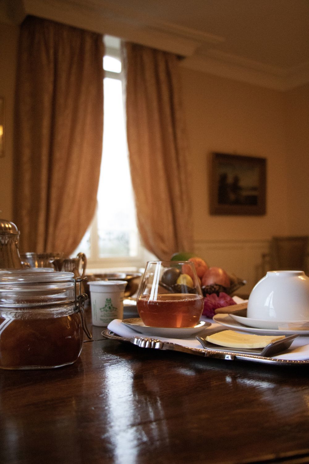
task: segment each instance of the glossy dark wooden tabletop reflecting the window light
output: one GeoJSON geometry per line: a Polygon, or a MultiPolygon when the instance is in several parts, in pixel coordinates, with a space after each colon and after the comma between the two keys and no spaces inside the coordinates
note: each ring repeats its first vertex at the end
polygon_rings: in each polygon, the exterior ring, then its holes
{"type": "Polygon", "coordinates": [[[73,365],[0,371],[0,463],[309,462],[307,368],[85,342],[73,365]]]}

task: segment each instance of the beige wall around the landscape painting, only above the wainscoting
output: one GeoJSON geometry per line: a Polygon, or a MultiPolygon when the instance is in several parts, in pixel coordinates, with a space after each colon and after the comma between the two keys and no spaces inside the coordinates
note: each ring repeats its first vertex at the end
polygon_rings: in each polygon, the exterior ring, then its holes
{"type": "Polygon", "coordinates": [[[283,94],[189,69],[183,69],[182,76],[195,200],[195,239],[256,239],[286,233],[283,94]],[[208,161],[214,151],[267,159],[266,215],[209,215],[208,161]]]}

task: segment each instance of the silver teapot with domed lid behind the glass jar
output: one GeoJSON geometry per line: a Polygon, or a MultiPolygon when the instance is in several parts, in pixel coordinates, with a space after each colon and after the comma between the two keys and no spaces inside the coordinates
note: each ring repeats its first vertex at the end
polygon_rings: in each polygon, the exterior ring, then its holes
{"type": "Polygon", "coordinates": [[[19,234],[13,222],[0,219],[0,269],[21,269],[26,266],[19,255],[19,234]]]}

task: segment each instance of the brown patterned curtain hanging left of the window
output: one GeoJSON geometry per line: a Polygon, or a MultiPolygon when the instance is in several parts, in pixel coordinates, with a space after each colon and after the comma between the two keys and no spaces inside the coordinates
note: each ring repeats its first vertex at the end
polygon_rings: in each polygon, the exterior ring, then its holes
{"type": "Polygon", "coordinates": [[[20,250],[72,253],[95,213],[103,135],[100,34],[27,17],[15,107],[20,250]]]}

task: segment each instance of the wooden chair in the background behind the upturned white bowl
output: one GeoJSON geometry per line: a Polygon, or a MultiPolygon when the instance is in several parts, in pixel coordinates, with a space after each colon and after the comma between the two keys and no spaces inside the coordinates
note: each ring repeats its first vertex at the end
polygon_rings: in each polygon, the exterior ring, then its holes
{"type": "Polygon", "coordinates": [[[262,255],[264,275],[267,271],[304,271],[308,273],[309,236],[272,237],[269,253],[262,255]]]}

